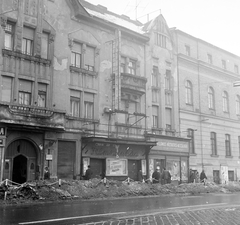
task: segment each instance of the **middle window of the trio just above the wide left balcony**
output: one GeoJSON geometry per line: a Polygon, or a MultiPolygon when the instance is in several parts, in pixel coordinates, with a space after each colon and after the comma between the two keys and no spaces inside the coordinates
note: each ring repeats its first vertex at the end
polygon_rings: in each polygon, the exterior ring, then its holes
{"type": "Polygon", "coordinates": [[[19,80],[18,103],[21,105],[31,105],[32,82],[19,80]]]}

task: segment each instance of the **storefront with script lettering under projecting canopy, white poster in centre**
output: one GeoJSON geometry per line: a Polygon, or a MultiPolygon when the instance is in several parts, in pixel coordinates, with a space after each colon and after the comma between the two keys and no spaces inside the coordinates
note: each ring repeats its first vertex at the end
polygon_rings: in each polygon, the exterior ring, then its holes
{"type": "Polygon", "coordinates": [[[141,172],[146,179],[148,154],[154,145],[155,141],[83,138],[82,177],[90,165],[93,178],[137,181],[141,172]]]}

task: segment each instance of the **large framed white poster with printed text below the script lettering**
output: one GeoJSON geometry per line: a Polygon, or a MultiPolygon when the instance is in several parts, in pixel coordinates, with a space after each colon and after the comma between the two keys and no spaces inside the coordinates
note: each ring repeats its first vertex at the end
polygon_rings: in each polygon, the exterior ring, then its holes
{"type": "Polygon", "coordinates": [[[128,165],[127,159],[106,159],[107,176],[127,176],[128,165]]]}

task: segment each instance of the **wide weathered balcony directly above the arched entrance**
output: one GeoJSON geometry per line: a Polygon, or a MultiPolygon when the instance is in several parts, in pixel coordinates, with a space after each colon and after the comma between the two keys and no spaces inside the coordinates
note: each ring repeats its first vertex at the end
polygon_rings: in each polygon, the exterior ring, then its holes
{"type": "Polygon", "coordinates": [[[37,106],[0,103],[0,123],[64,129],[65,113],[37,106]]]}

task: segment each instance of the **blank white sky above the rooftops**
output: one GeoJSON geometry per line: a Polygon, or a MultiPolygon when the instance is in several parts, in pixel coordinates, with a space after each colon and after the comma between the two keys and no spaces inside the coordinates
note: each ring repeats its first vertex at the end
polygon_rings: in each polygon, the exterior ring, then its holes
{"type": "Polygon", "coordinates": [[[86,0],[141,22],[163,14],[176,27],[240,56],[240,0],[86,0]],[[154,12],[155,13],[152,13],[154,12]],[[144,16],[145,15],[145,16],[144,16]],[[142,17],[144,16],[144,17],[142,17]]]}

